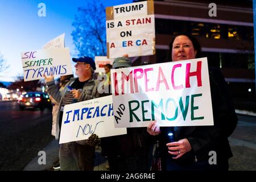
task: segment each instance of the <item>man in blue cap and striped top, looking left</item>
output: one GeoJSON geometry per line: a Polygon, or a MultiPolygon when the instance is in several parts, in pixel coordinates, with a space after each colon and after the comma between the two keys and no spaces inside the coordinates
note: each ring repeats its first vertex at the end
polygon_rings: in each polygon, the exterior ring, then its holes
{"type": "MultiPolygon", "coordinates": [[[[72,59],[76,65],[77,78],[71,78],[65,85],[62,92],[59,91],[54,82],[54,77],[45,77],[48,86],[48,92],[59,102],[56,122],[56,139],[60,137],[61,121],[63,117],[64,106],[73,102],[81,102],[97,98],[99,93],[97,86],[100,83],[93,79],[93,73],[96,69],[94,60],[91,57],[80,57],[72,59]]],[[[61,171],[85,171],[93,170],[95,146],[88,144],[88,140],[80,140],[60,144],[60,170],[61,171]]]]}

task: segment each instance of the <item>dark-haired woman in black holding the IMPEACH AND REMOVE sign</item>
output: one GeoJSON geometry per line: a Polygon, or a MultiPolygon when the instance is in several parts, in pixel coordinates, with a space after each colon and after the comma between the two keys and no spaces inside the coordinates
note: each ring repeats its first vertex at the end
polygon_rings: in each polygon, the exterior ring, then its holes
{"type": "MultiPolygon", "coordinates": [[[[168,61],[201,57],[201,46],[188,34],[177,34],[170,43],[168,61]]],[[[237,125],[237,116],[224,77],[209,69],[214,126],[159,127],[152,121],[151,135],[160,135],[162,167],[170,170],[228,170],[232,157],[228,137],[237,125]]]]}

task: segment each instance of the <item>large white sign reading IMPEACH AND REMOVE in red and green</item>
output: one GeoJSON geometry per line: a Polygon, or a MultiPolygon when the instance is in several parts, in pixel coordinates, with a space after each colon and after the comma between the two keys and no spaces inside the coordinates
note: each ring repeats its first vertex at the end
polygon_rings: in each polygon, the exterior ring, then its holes
{"type": "Polygon", "coordinates": [[[111,70],[115,127],[213,125],[207,57],[111,70]]]}

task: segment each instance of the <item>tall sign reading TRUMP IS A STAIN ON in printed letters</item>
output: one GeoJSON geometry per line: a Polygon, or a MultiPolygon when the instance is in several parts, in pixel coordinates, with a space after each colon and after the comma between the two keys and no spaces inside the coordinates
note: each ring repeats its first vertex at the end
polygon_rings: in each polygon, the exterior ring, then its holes
{"type": "Polygon", "coordinates": [[[106,42],[110,58],[154,55],[154,1],[106,7],[106,42]]]}

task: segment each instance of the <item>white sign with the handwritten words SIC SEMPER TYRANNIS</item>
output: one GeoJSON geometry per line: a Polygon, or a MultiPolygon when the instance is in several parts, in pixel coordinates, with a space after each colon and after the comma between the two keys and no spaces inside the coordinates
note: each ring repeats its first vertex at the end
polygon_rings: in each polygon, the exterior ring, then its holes
{"type": "Polygon", "coordinates": [[[69,48],[27,51],[21,57],[24,81],[73,74],[69,48]]]}

